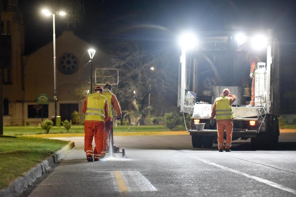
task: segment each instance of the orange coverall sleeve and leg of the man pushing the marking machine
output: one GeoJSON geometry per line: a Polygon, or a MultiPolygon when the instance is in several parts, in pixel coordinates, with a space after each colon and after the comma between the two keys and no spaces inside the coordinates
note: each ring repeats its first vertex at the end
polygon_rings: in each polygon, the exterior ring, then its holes
{"type": "MultiPolygon", "coordinates": [[[[112,94],[112,97],[111,97],[111,105],[114,107],[114,109],[117,113],[117,116],[121,116],[122,115],[121,108],[120,108],[119,102],[114,94],[112,94]]],[[[101,156],[105,156],[106,152],[107,152],[107,147],[109,144],[109,134],[110,134],[111,126],[112,126],[112,121],[113,121],[113,118],[111,118],[109,116],[107,117],[107,121],[105,121],[104,143],[103,143],[103,150],[102,150],[101,156]]]]}

